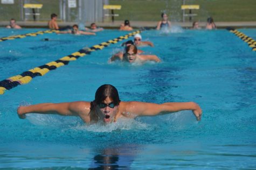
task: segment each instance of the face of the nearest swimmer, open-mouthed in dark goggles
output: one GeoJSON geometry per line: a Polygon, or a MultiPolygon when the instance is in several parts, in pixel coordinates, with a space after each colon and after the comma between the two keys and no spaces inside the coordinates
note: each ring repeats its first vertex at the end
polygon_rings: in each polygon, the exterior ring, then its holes
{"type": "Polygon", "coordinates": [[[97,104],[96,109],[96,114],[98,114],[103,122],[111,123],[116,121],[118,105],[113,103],[112,98],[107,97],[104,101],[97,104]]]}

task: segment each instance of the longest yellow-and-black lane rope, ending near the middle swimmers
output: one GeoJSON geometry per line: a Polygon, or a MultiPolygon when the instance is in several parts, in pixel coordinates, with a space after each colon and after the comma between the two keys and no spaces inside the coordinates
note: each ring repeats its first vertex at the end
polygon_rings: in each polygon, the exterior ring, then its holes
{"type": "Polygon", "coordinates": [[[5,93],[5,90],[10,90],[18,85],[29,83],[36,76],[43,76],[46,73],[48,73],[50,70],[54,70],[54,69],[57,69],[58,67],[65,66],[70,61],[74,61],[82,56],[91,54],[91,52],[93,51],[101,50],[109,46],[110,44],[116,44],[119,41],[128,39],[129,37],[132,37],[137,33],[141,33],[141,31],[140,30],[134,31],[124,36],[120,36],[115,39],[108,40],[106,42],[101,42],[100,44],[94,45],[90,48],[80,49],[77,52],[74,52],[70,55],[60,58],[59,60],[46,63],[45,65],[38,66],[36,68],[32,68],[26,72],[23,72],[22,74],[12,76],[12,77],[9,77],[8,79],[2,80],[0,81],[0,95],[3,95],[5,93]]]}

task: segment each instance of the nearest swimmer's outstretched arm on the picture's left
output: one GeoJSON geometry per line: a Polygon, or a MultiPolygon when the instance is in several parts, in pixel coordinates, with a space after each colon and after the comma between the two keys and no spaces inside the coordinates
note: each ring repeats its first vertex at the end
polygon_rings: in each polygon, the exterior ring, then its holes
{"type": "Polygon", "coordinates": [[[41,103],[27,106],[20,106],[17,109],[19,118],[25,118],[25,114],[57,114],[61,116],[88,115],[90,111],[89,102],[66,102],[66,103],[41,103]]]}

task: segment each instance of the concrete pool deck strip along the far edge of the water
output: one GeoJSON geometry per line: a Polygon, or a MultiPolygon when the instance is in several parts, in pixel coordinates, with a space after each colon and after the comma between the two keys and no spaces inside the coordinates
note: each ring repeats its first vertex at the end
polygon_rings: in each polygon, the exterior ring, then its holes
{"type": "MultiPolygon", "coordinates": [[[[118,29],[120,24],[122,24],[123,21],[115,21],[112,22],[104,22],[104,23],[96,23],[99,27],[103,27],[105,29],[118,29]]],[[[22,27],[43,27],[47,28],[47,22],[33,22],[33,21],[26,21],[26,22],[17,22],[18,25],[22,27]]],[[[65,26],[72,26],[74,24],[77,24],[75,22],[58,22],[59,27],[65,27],[65,26]]],[[[89,26],[91,23],[86,23],[86,26],[89,26]]],[[[149,27],[154,28],[157,25],[157,22],[145,22],[145,21],[130,21],[130,24],[135,29],[141,28],[141,27],[149,27]]],[[[225,27],[234,27],[234,28],[256,28],[256,22],[215,22],[218,28],[225,28],[225,27]]],[[[6,25],[9,25],[9,22],[0,22],[0,26],[4,27],[6,25]]],[[[172,25],[181,26],[184,28],[191,27],[191,22],[172,22],[172,25]]],[[[200,27],[205,27],[205,22],[200,22],[200,27]]]]}

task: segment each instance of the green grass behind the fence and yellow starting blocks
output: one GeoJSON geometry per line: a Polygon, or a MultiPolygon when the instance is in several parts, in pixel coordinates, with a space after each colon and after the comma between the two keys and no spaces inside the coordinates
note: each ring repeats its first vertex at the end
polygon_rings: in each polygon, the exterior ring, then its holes
{"type": "MultiPolygon", "coordinates": [[[[0,3],[0,20],[6,21],[10,18],[21,20],[19,1],[14,2],[15,4],[11,5],[0,3]]],[[[186,0],[185,2],[200,5],[199,10],[192,10],[192,13],[198,14],[193,20],[200,22],[205,22],[209,16],[212,16],[215,22],[256,21],[255,0],[186,0]]],[[[59,1],[37,0],[36,3],[43,4],[43,8],[40,9],[41,20],[49,20],[51,13],[59,14],[59,1]]],[[[182,3],[182,0],[109,0],[109,4],[122,5],[121,10],[115,11],[120,15],[115,17],[116,20],[158,21],[161,19],[161,13],[166,12],[171,21],[181,22],[182,3]]],[[[71,9],[71,21],[75,22],[77,13],[77,9],[71,9]]]]}

